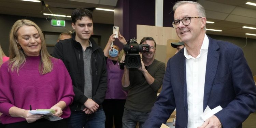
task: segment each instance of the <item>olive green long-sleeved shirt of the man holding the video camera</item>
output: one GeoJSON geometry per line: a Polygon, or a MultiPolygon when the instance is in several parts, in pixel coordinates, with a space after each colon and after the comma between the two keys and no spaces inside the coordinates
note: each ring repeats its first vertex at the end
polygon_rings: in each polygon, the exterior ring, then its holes
{"type": "Polygon", "coordinates": [[[123,87],[123,90],[128,90],[125,108],[129,110],[151,112],[151,108],[157,100],[157,91],[162,85],[165,74],[165,63],[154,59],[146,69],[155,79],[151,85],[147,83],[141,71],[129,69],[130,85],[123,87]]]}

